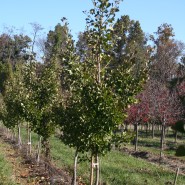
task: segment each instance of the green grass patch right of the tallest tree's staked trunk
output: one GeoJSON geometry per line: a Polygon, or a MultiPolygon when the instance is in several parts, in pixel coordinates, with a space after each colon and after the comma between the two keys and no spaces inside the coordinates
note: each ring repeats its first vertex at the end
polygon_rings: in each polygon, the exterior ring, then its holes
{"type": "MultiPolygon", "coordinates": [[[[175,176],[167,169],[118,151],[113,151],[103,158],[102,174],[104,180],[115,185],[156,185],[156,181],[162,185],[167,182],[172,183],[175,176]]],[[[179,184],[183,184],[185,177],[181,176],[178,180],[179,184]]]]}

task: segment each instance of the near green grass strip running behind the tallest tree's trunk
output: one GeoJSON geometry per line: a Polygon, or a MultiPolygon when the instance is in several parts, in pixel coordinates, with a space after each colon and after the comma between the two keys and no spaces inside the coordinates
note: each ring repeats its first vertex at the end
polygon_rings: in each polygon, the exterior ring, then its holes
{"type": "MultiPolygon", "coordinates": [[[[65,167],[72,172],[74,150],[52,137],[52,156],[58,167],[65,167]]],[[[175,174],[155,164],[142,159],[112,151],[101,158],[101,182],[110,185],[164,185],[173,184],[175,174]]],[[[89,163],[78,165],[78,175],[87,182],[89,178],[89,163]]],[[[183,185],[185,176],[179,176],[178,184],[183,185]]],[[[184,183],[185,184],[185,183],[184,183]]]]}

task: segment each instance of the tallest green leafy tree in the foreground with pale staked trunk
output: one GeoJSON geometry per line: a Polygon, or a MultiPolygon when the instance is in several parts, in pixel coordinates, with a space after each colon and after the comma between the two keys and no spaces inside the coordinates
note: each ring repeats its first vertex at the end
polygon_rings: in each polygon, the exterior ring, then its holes
{"type": "MultiPolygon", "coordinates": [[[[119,3],[119,0],[113,3],[93,0],[94,8],[86,12],[84,32],[88,52],[83,53],[83,60],[75,54],[73,47],[69,47],[71,49],[66,56],[63,55],[66,61],[63,70],[68,72],[66,83],[70,88],[61,108],[61,138],[76,148],[76,157],[78,152],[90,152],[91,185],[94,167],[96,184],[99,183],[99,155],[111,150],[115,131],[126,118],[125,109],[136,101],[135,95],[146,80],[148,55],[144,44],[138,45],[137,40],[132,40],[133,46],[137,47],[128,46],[121,62],[116,60],[115,47],[122,39],[114,35],[119,3]],[[142,55],[136,52],[139,46],[142,47],[142,55]]],[[[69,37],[68,43],[71,40],[69,37]]],[[[126,133],[123,133],[124,137],[127,138],[126,133]]],[[[75,178],[73,182],[76,183],[75,178]]]]}

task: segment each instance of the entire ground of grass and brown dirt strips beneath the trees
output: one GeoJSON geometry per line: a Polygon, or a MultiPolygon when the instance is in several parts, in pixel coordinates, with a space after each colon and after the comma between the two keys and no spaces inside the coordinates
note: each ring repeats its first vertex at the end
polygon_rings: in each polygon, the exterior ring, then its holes
{"type": "MultiPolygon", "coordinates": [[[[180,135],[177,143],[174,143],[172,131],[166,135],[166,147],[163,159],[159,159],[159,134],[154,139],[139,132],[138,151],[134,146],[127,143],[119,149],[114,149],[100,159],[100,184],[107,185],[159,185],[174,184],[176,170],[179,174],[176,184],[185,184],[185,157],[175,157],[175,149],[184,142],[185,136],[180,135]]],[[[22,129],[22,140],[26,143],[26,129],[22,129]]],[[[28,163],[24,150],[16,148],[16,141],[7,138],[1,129],[0,138],[0,182],[4,184],[48,184],[53,178],[63,178],[65,183],[70,184],[73,172],[74,150],[65,146],[57,136],[51,138],[52,166],[58,173],[46,174],[42,164],[33,167],[28,163]],[[40,171],[40,173],[38,173],[40,171]]],[[[32,156],[35,154],[37,135],[32,135],[32,156]]],[[[24,147],[23,147],[24,148],[24,147]]],[[[82,157],[82,155],[80,155],[82,157]]],[[[88,156],[88,153],[87,153],[88,156]]],[[[88,184],[90,162],[85,160],[78,164],[77,176],[79,184],[88,184]]]]}

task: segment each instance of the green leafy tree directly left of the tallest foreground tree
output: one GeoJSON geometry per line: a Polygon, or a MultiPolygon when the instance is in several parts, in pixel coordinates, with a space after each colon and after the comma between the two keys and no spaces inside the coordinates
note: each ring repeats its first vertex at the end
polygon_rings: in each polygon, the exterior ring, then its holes
{"type": "Polygon", "coordinates": [[[59,71],[54,60],[40,68],[38,65],[32,61],[25,68],[24,116],[31,123],[31,129],[42,137],[44,154],[49,160],[49,137],[56,126],[52,120],[53,107],[58,104],[60,95],[59,71]]]}

